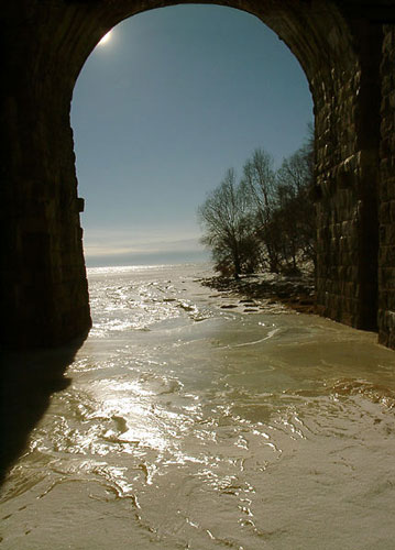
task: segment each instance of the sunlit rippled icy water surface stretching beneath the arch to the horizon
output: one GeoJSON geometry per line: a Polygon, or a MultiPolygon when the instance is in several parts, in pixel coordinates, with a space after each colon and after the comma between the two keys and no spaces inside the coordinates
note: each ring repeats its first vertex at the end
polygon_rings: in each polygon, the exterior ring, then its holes
{"type": "Polygon", "coordinates": [[[394,352],[202,274],[89,271],[94,329],[6,480],[1,549],[394,548],[394,352]]]}

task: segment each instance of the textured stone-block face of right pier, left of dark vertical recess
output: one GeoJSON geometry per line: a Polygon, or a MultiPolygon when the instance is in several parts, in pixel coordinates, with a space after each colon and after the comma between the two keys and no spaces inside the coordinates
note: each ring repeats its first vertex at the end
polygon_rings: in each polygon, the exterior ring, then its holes
{"type": "MultiPolygon", "coordinates": [[[[321,315],[361,326],[355,62],[344,80],[316,100],[317,305],[321,315]],[[351,76],[352,75],[352,76],[351,76]],[[347,78],[350,77],[350,78],[347,78]],[[344,139],[341,139],[343,136],[344,139]]],[[[320,75],[318,80],[322,81],[320,75]]]]}

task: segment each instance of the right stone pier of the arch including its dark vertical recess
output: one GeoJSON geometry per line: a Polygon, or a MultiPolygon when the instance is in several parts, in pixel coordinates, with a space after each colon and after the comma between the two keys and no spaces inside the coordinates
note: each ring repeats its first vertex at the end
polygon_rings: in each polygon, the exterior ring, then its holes
{"type": "Polygon", "coordinates": [[[382,32],[361,23],[352,32],[359,55],[348,53],[348,67],[332,69],[331,89],[315,101],[317,302],[326,317],[374,330],[382,32]]]}

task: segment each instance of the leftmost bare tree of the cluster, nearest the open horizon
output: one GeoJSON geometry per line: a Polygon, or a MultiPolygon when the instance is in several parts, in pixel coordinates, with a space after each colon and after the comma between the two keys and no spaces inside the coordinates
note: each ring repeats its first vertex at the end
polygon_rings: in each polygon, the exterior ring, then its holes
{"type": "Polygon", "coordinates": [[[216,268],[222,274],[252,271],[257,258],[257,242],[249,210],[244,184],[237,184],[233,168],[198,209],[205,235],[201,242],[211,250],[216,268]]]}

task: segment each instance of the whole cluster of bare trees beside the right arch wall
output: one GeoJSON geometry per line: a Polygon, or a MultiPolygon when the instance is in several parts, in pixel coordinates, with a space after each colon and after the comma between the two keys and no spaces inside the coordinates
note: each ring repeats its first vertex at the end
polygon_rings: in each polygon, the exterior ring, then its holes
{"type": "Polygon", "coordinates": [[[271,271],[297,273],[316,261],[312,131],[306,143],[275,170],[273,157],[256,148],[240,182],[229,168],[198,209],[201,242],[216,271],[239,277],[271,271]]]}

